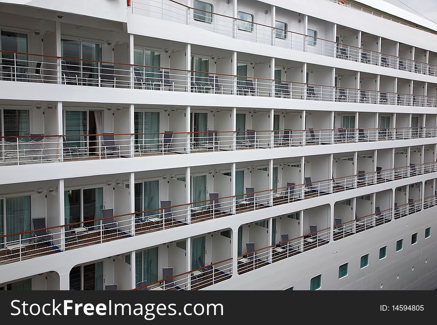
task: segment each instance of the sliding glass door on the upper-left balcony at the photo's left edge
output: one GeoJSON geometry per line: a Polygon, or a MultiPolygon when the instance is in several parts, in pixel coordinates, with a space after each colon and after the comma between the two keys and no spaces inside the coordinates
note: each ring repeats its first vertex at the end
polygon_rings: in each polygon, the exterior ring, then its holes
{"type": "MultiPolygon", "coordinates": [[[[27,34],[1,30],[0,50],[27,53],[27,34]]],[[[1,80],[26,81],[26,54],[1,53],[1,80]]]]}

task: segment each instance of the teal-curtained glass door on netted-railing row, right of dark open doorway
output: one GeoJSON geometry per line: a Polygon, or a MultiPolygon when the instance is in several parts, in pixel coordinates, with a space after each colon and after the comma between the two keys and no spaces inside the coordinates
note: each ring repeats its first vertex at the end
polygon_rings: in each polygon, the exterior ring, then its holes
{"type": "Polygon", "coordinates": [[[138,146],[155,147],[159,143],[159,112],[135,112],[135,144],[138,146]]]}

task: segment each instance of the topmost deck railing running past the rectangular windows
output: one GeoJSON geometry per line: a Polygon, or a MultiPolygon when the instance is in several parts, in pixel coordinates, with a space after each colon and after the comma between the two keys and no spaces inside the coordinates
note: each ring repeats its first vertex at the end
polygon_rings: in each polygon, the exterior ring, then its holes
{"type": "MultiPolygon", "coordinates": [[[[351,3],[349,5],[352,6],[351,3]]],[[[216,12],[195,9],[175,0],[135,0],[132,12],[199,27],[220,35],[254,43],[420,74],[436,76],[437,72],[437,65],[337,43],[216,12]]]]}

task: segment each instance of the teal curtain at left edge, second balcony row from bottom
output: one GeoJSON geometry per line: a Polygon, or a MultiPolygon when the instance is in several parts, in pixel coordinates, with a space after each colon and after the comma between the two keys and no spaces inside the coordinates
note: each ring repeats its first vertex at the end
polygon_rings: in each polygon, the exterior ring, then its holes
{"type": "MultiPolygon", "coordinates": [[[[30,195],[6,198],[6,234],[31,230],[30,195]]],[[[30,233],[21,235],[21,239],[30,238],[30,233]]],[[[16,241],[20,235],[6,237],[6,242],[16,241]]],[[[26,240],[25,242],[28,242],[26,240]]]]}

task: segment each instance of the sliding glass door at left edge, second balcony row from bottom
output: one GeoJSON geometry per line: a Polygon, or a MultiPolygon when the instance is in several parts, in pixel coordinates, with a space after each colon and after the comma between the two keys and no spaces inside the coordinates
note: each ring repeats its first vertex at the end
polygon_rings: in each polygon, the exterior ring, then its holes
{"type": "MultiPolygon", "coordinates": [[[[0,234],[10,235],[31,230],[31,209],[30,209],[30,195],[6,197],[0,199],[0,234]]],[[[13,242],[18,240],[27,243],[30,241],[30,233],[20,235],[13,235],[3,237],[0,239],[0,248],[6,242],[13,242]]]]}

